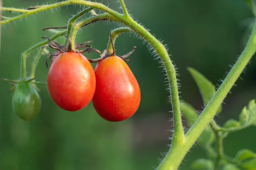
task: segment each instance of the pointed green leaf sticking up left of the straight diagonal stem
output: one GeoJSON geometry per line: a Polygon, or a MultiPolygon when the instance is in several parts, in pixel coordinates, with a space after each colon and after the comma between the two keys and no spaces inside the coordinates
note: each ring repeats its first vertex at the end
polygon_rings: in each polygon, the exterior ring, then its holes
{"type": "MultiPolygon", "coordinates": [[[[198,85],[199,91],[204,101],[204,105],[207,105],[208,102],[212,99],[212,95],[215,94],[216,89],[215,85],[212,84],[203,74],[196,71],[194,68],[188,68],[188,71],[194,78],[196,84],[198,85]]],[[[217,111],[217,114],[221,112],[221,106],[217,111]]]]}

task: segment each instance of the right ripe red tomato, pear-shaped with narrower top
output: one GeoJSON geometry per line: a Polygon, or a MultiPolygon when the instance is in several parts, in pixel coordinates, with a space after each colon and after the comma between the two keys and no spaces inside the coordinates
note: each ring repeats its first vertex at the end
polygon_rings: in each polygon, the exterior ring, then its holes
{"type": "Polygon", "coordinates": [[[119,122],[130,118],[140,105],[140,87],[123,59],[102,59],[94,70],[96,91],[93,106],[103,119],[119,122]]]}

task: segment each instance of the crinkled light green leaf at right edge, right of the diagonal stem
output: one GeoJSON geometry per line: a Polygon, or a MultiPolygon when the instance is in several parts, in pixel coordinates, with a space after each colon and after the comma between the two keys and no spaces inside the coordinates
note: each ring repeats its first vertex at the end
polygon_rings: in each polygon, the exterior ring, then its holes
{"type": "Polygon", "coordinates": [[[256,104],[255,100],[251,100],[248,106],[245,106],[239,115],[239,122],[241,125],[255,125],[256,124],[256,104]]]}

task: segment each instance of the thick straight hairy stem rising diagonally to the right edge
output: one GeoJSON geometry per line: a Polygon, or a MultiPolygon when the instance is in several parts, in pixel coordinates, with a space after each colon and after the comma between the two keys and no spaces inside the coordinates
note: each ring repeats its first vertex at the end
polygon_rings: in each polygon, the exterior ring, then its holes
{"type": "MultiPolygon", "coordinates": [[[[227,96],[228,92],[239,78],[241,72],[244,70],[245,66],[248,64],[253,54],[256,52],[256,23],[254,23],[252,34],[247,42],[244,51],[240,55],[239,59],[236,61],[233,68],[230,70],[229,74],[222,82],[221,86],[216,91],[215,95],[212,97],[208,105],[204,108],[204,111],[198,117],[197,121],[192,125],[189,131],[186,133],[185,144],[173,148],[170,154],[167,154],[169,161],[172,161],[169,170],[176,170],[183,157],[195,143],[196,139],[203,132],[205,127],[209,124],[212,118],[215,116],[221,103],[227,96]]],[[[166,168],[167,169],[167,168],[166,168]]],[[[164,169],[163,169],[164,170],[164,169]]]]}

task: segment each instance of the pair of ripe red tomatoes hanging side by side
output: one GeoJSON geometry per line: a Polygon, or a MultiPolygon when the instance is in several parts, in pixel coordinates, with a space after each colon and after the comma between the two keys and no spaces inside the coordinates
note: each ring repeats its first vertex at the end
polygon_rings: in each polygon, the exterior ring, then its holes
{"type": "Polygon", "coordinates": [[[130,118],[140,105],[140,87],[131,69],[115,55],[101,59],[95,70],[84,55],[73,51],[53,58],[47,76],[53,102],[66,111],[79,111],[90,101],[103,119],[130,118]]]}

